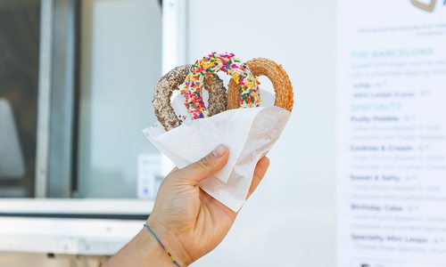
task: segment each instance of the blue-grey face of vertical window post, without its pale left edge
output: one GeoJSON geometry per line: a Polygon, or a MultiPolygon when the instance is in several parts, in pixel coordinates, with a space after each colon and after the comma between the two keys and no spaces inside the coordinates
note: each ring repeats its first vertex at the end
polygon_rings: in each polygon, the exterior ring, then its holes
{"type": "Polygon", "coordinates": [[[76,0],[54,2],[51,126],[46,197],[70,198],[76,85],[76,0]]]}

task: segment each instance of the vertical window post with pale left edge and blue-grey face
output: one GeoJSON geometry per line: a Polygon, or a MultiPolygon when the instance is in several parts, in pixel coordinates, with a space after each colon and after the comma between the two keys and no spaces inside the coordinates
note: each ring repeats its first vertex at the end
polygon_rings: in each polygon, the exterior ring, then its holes
{"type": "Polygon", "coordinates": [[[37,198],[69,198],[77,51],[76,0],[42,0],[37,198]]]}

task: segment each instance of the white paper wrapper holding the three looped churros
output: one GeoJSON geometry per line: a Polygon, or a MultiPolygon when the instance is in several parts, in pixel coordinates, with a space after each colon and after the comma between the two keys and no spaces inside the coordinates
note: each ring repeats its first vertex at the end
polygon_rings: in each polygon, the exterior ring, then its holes
{"type": "MultiPolygon", "coordinates": [[[[262,98],[270,97],[263,93],[262,98]]],[[[177,97],[172,107],[178,115],[188,116],[177,97]]],[[[233,211],[243,205],[252,182],[254,168],[282,133],[291,113],[277,107],[232,109],[216,116],[188,120],[165,132],[160,124],[143,130],[147,139],[178,168],[188,166],[219,144],[229,149],[227,165],[215,176],[200,183],[202,190],[233,211]]]]}

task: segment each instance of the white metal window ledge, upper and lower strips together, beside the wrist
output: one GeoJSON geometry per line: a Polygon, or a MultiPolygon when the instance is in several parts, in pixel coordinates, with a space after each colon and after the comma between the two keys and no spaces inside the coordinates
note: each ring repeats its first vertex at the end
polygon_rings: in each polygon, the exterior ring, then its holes
{"type": "Polygon", "coordinates": [[[0,199],[0,214],[8,214],[0,215],[0,251],[113,255],[142,228],[144,214],[152,209],[152,201],[136,199],[0,199]],[[98,219],[107,214],[120,214],[120,219],[98,219]],[[130,219],[123,220],[126,215],[130,219]]]}

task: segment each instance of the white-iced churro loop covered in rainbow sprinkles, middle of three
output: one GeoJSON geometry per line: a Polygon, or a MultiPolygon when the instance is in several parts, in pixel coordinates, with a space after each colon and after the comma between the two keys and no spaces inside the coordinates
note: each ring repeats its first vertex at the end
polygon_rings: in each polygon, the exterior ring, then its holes
{"type": "Polygon", "coordinates": [[[186,108],[193,119],[210,117],[202,100],[202,86],[207,77],[219,71],[234,78],[240,92],[240,107],[253,108],[260,106],[260,82],[244,62],[237,59],[234,53],[211,53],[191,66],[186,77],[186,85],[181,91],[186,98],[186,108]]]}

